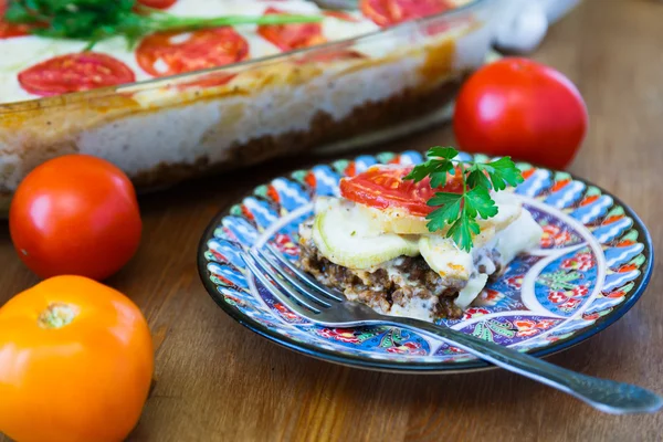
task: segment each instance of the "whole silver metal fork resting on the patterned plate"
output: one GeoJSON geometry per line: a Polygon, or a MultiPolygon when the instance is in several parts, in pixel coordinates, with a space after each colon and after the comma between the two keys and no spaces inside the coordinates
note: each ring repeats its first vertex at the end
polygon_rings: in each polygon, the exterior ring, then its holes
{"type": "Polygon", "coordinates": [[[369,306],[350,302],[343,293],[320,285],[271,244],[246,250],[243,259],[255,277],[281,303],[313,323],[340,328],[394,325],[428,333],[487,362],[569,393],[607,413],[651,413],[663,406],[657,394],[638,386],[581,375],[424,320],[378,314],[369,306]]]}

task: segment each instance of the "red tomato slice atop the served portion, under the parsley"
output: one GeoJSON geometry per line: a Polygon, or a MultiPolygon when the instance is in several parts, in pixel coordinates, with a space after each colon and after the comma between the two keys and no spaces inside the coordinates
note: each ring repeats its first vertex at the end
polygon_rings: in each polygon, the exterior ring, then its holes
{"type": "Polygon", "coordinates": [[[413,215],[425,217],[433,211],[427,204],[435,192],[461,193],[463,183],[457,173],[449,176],[446,186],[433,189],[430,178],[419,182],[404,180],[411,166],[373,166],[354,177],[340,180],[340,196],[376,209],[406,209],[413,215]]]}

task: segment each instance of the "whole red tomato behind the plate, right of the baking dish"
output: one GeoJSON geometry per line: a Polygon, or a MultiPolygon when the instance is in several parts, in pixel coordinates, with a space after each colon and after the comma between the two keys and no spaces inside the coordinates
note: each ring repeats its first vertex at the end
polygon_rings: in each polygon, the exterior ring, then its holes
{"type": "Polygon", "coordinates": [[[461,88],[453,129],[461,149],[566,168],[587,133],[587,107],[573,84],[532,60],[480,69],[461,88]]]}

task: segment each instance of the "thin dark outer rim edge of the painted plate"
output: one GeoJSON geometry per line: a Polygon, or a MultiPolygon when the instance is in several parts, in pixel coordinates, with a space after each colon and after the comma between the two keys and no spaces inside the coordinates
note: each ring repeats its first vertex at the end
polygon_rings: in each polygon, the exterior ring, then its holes
{"type": "MultiPolygon", "coordinates": [[[[403,151],[381,151],[381,152],[372,154],[371,156],[377,157],[379,155],[385,155],[385,154],[399,155],[399,154],[403,154],[403,152],[406,152],[406,151],[404,150],[403,151]]],[[[330,161],[314,162],[309,167],[305,167],[304,170],[311,170],[316,166],[332,166],[335,161],[339,161],[339,160],[352,161],[356,157],[339,158],[339,159],[334,159],[330,161]]],[[[586,327],[586,329],[580,330],[579,333],[575,334],[573,336],[571,336],[567,339],[560,339],[556,343],[551,343],[550,345],[548,345],[546,347],[527,349],[525,351],[528,355],[541,358],[541,357],[550,356],[550,355],[557,354],[559,351],[569,349],[569,348],[593,337],[598,333],[604,330],[606,328],[608,328],[609,326],[611,326],[612,324],[614,324],[619,319],[621,319],[621,317],[624,316],[627,314],[627,312],[629,312],[633,307],[633,305],[635,305],[635,303],[640,299],[640,297],[642,296],[642,294],[649,286],[649,283],[650,283],[650,280],[652,276],[653,265],[654,265],[654,248],[653,248],[651,234],[650,234],[649,230],[646,229],[644,222],[638,215],[638,213],[630,206],[625,204],[620,198],[615,197],[612,192],[606,190],[601,186],[597,186],[593,182],[588,181],[585,178],[580,178],[572,172],[550,169],[547,167],[528,164],[528,162],[526,162],[526,164],[530,165],[533,167],[536,167],[537,169],[543,169],[543,170],[546,170],[546,171],[549,171],[552,173],[555,173],[555,172],[567,173],[572,180],[580,181],[587,186],[592,186],[596,189],[600,190],[601,194],[607,194],[607,196],[611,197],[613,199],[614,204],[620,206],[624,210],[625,214],[633,220],[633,225],[631,227],[631,229],[635,230],[638,232],[639,242],[641,242],[643,244],[642,254],[646,259],[646,263],[644,264],[643,267],[640,269],[641,274],[635,280],[633,280],[633,283],[636,284],[635,290],[633,291],[633,293],[630,295],[630,297],[628,299],[625,299],[621,304],[615,305],[614,309],[611,313],[598,318],[594,324],[586,327]]],[[[287,176],[287,172],[285,175],[276,176],[273,179],[282,178],[285,176],[287,176]]],[[[271,182],[271,181],[267,181],[267,182],[271,182]]],[[[316,359],[326,360],[329,362],[335,362],[335,364],[339,364],[343,366],[349,366],[349,367],[354,367],[354,368],[378,370],[378,371],[400,372],[400,373],[455,373],[455,372],[461,372],[461,371],[467,372],[467,371],[478,371],[478,370],[496,368],[494,365],[488,364],[482,359],[474,359],[474,360],[469,360],[469,361],[460,361],[460,362],[450,364],[449,361],[386,360],[386,359],[373,359],[373,358],[369,358],[369,357],[362,357],[360,355],[339,354],[335,350],[322,348],[319,346],[308,344],[308,343],[296,341],[294,339],[291,339],[287,336],[283,336],[283,335],[278,334],[277,332],[275,332],[273,328],[261,324],[260,322],[243,314],[238,308],[234,308],[233,306],[231,306],[229,303],[227,303],[223,299],[223,296],[219,293],[219,291],[217,290],[217,286],[210,281],[210,278],[208,276],[209,272],[207,270],[207,259],[204,257],[204,252],[207,251],[208,241],[214,238],[214,235],[213,235],[214,230],[221,223],[223,218],[231,214],[230,209],[235,203],[235,201],[241,201],[244,198],[251,197],[253,194],[254,194],[253,191],[243,193],[242,196],[240,196],[240,198],[231,201],[228,204],[228,207],[225,207],[224,209],[220,210],[217,214],[214,214],[214,217],[212,217],[212,219],[208,223],[207,228],[204,229],[204,232],[203,232],[203,234],[198,243],[198,248],[197,248],[198,275],[199,275],[206,291],[211,296],[211,298],[231,318],[233,318],[234,320],[240,323],[242,326],[254,332],[259,336],[262,336],[262,337],[264,337],[275,344],[278,344],[280,346],[285,347],[290,350],[293,350],[293,351],[296,351],[298,354],[303,354],[306,356],[311,356],[316,359]]]]}

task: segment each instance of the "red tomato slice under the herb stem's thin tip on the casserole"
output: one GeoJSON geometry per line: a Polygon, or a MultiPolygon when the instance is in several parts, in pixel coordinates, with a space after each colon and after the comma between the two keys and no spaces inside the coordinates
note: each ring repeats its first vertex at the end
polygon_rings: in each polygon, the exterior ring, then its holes
{"type": "MultiPolygon", "coordinates": [[[[265,15],[284,13],[286,12],[273,7],[265,10],[265,15]]],[[[327,41],[320,23],[263,24],[257,27],[257,33],[282,51],[308,48],[327,41]]]]}

